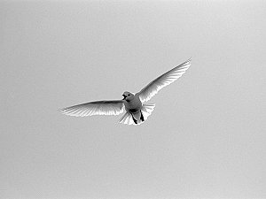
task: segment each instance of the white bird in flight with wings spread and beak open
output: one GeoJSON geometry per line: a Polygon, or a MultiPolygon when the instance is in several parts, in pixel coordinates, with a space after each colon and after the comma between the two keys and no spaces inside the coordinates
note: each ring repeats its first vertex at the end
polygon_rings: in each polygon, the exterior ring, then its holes
{"type": "Polygon", "coordinates": [[[119,119],[119,123],[126,125],[140,125],[152,114],[155,103],[145,103],[155,96],[161,88],[164,88],[180,78],[191,66],[192,59],[188,59],[181,65],[177,65],[167,73],[161,74],[151,81],[139,92],[125,91],[121,100],[104,100],[90,103],[82,103],[60,109],[63,114],[75,117],[92,115],[119,115],[125,110],[125,114],[119,119]]]}

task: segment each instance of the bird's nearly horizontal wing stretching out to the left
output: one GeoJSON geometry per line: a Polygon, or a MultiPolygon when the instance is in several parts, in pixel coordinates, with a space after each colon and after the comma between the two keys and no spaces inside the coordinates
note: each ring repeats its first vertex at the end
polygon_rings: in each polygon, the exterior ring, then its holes
{"type": "Polygon", "coordinates": [[[85,117],[91,115],[119,115],[123,110],[124,104],[121,100],[96,101],[90,103],[82,103],[60,109],[63,114],[85,117]]]}

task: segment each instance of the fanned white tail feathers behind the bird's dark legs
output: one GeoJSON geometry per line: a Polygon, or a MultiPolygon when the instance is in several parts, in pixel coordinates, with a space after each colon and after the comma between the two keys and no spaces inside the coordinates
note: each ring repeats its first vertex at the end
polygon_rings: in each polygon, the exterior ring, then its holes
{"type": "MultiPolygon", "coordinates": [[[[150,104],[143,104],[141,111],[144,117],[144,120],[148,119],[148,117],[152,114],[155,107],[155,103],[150,104]]],[[[136,114],[134,114],[134,118],[137,119],[137,124],[135,124],[131,114],[129,112],[126,112],[121,119],[119,119],[119,123],[125,124],[125,125],[140,125],[144,121],[140,119],[140,111],[136,114]]]]}

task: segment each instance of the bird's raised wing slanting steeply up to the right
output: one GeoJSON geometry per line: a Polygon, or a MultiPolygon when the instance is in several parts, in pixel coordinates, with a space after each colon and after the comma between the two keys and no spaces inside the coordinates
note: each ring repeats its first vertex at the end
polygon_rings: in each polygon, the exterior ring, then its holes
{"type": "Polygon", "coordinates": [[[152,82],[150,82],[145,88],[137,93],[142,103],[150,100],[161,88],[168,86],[170,83],[177,80],[184,74],[184,72],[191,66],[191,60],[189,59],[181,65],[177,65],[172,70],[160,75],[152,82]]]}

